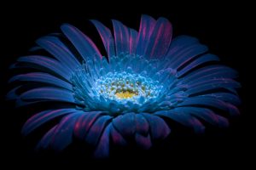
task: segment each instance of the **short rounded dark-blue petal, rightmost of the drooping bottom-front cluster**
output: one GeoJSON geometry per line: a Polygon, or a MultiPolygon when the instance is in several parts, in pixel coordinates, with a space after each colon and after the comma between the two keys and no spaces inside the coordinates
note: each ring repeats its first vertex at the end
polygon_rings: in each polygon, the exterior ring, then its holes
{"type": "Polygon", "coordinates": [[[165,139],[169,133],[171,133],[171,129],[159,116],[150,115],[148,113],[141,114],[148,120],[152,139],[165,139]]]}

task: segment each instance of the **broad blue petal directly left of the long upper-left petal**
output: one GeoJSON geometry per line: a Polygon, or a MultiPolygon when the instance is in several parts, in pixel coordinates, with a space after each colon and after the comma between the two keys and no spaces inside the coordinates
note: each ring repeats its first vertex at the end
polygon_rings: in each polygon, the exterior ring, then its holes
{"type": "Polygon", "coordinates": [[[61,61],[69,71],[77,69],[80,64],[64,44],[56,37],[41,37],[37,40],[38,45],[47,50],[56,59],[61,61]]]}

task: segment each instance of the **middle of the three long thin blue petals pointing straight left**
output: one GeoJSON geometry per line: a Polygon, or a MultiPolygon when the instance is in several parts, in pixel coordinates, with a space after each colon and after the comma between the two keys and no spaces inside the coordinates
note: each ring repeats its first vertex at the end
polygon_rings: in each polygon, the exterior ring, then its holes
{"type": "Polygon", "coordinates": [[[72,91],[73,87],[70,83],[61,80],[60,78],[54,77],[48,73],[44,72],[31,72],[26,74],[17,75],[12,77],[9,82],[15,81],[27,81],[27,82],[44,82],[58,86],[60,88],[66,88],[67,90],[72,91]]]}

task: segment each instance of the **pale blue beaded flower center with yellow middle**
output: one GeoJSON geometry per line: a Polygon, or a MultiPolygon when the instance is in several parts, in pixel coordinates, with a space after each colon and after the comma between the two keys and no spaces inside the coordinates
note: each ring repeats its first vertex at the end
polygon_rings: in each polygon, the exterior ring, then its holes
{"type": "Polygon", "coordinates": [[[133,102],[140,97],[143,100],[155,97],[155,87],[151,79],[126,72],[108,73],[96,81],[96,91],[104,98],[133,102]]]}

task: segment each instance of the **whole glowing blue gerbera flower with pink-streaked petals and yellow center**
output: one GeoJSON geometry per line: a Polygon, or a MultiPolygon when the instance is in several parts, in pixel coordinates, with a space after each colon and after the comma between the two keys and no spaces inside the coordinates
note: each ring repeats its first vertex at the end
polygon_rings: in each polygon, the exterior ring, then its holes
{"type": "Polygon", "coordinates": [[[91,20],[108,56],[102,56],[90,37],[64,24],[61,36],[37,40],[38,48],[49,55],[23,56],[12,66],[37,70],[10,79],[20,83],[8,95],[18,106],[68,103],[61,109],[53,105],[25,123],[22,133],[27,135],[59,118],[38,148],[63,150],[79,139],[95,148],[95,156],[108,156],[110,143],[133,140],[148,149],[166,139],[172,128],[166,119],[203,133],[206,122],[228,126],[227,118],[216,111],[239,114],[236,71],[219,65],[218,57],[208,54],[195,37],[172,39],[172,25],[165,18],[143,15],[139,31],[112,21],[113,34],[91,20]]]}

